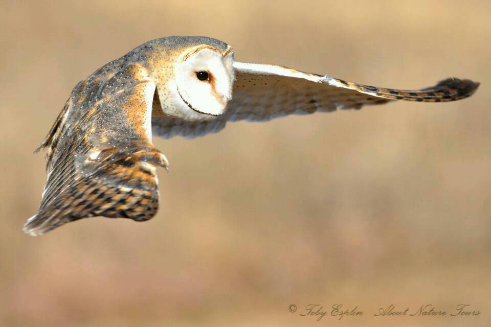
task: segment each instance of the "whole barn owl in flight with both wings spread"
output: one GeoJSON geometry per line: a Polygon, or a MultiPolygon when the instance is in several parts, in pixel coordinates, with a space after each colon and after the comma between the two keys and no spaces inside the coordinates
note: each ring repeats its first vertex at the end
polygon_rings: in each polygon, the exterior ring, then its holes
{"type": "Polygon", "coordinates": [[[381,88],[237,62],[230,45],[208,37],[152,40],[75,86],[39,147],[48,148],[48,180],[39,211],[24,231],[41,235],[95,216],[152,218],[159,205],[155,168],[169,167],[152,135],[194,138],[216,133],[227,122],[393,100],[454,101],[478,86],[449,78],[420,90],[381,88]]]}

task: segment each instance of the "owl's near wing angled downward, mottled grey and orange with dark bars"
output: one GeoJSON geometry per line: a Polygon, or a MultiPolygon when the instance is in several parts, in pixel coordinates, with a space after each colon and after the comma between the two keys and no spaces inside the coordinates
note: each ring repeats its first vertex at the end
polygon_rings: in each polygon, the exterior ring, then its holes
{"type": "Polygon", "coordinates": [[[155,167],[167,160],[151,144],[154,90],[141,66],[119,61],[74,88],[41,144],[49,147],[48,181],[26,232],[40,235],[85,217],[155,215],[155,167]]]}

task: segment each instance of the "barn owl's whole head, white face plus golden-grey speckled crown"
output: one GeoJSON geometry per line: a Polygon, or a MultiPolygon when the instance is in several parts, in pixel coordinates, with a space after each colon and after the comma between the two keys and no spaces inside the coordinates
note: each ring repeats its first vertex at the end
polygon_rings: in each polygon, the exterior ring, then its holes
{"type": "Polygon", "coordinates": [[[214,119],[232,100],[233,51],[207,37],[166,38],[165,60],[154,79],[162,113],[191,120],[214,119]]]}

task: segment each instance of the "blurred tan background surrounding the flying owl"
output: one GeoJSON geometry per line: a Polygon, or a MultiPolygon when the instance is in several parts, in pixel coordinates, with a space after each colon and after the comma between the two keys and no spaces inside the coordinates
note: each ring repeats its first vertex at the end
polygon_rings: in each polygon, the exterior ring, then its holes
{"type": "Polygon", "coordinates": [[[0,2],[0,326],[488,326],[491,3],[0,2]],[[137,45],[206,35],[236,59],[470,99],[230,123],[155,139],[161,207],[33,238],[33,155],[75,84],[137,45]],[[302,317],[335,303],[362,317],[302,317]],[[426,303],[444,317],[374,317],[426,303]],[[477,317],[451,317],[470,304],[477,317]],[[288,306],[295,304],[296,313],[288,306]]]}

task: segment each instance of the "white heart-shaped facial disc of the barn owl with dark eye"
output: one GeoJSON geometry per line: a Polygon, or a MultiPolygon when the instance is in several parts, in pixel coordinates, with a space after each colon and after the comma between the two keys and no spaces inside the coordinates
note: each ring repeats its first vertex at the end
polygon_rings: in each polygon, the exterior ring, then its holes
{"type": "Polygon", "coordinates": [[[225,113],[232,100],[232,56],[204,48],[183,58],[174,68],[175,85],[169,85],[175,88],[174,104],[183,116],[213,119],[225,113]]]}

